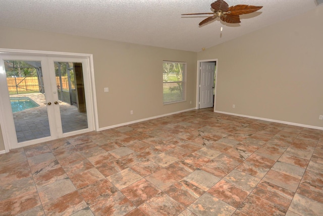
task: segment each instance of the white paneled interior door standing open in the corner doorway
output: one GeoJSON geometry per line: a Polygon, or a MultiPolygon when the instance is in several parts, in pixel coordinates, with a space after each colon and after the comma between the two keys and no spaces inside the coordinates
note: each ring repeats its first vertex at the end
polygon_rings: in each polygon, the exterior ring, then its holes
{"type": "Polygon", "coordinates": [[[199,108],[207,108],[213,106],[213,81],[215,62],[201,62],[200,66],[200,94],[199,108]]]}

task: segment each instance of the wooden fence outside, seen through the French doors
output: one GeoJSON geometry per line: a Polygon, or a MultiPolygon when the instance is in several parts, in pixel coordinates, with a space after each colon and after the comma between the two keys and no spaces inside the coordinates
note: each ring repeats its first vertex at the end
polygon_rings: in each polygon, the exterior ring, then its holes
{"type": "MultiPolygon", "coordinates": [[[[8,90],[9,92],[17,91],[37,91],[39,92],[42,88],[38,83],[37,77],[8,77],[8,90]]],[[[60,85],[60,77],[56,77],[56,83],[60,85]]],[[[58,86],[61,87],[61,86],[58,86]]],[[[68,77],[62,77],[62,87],[63,89],[69,88],[68,77]]]]}

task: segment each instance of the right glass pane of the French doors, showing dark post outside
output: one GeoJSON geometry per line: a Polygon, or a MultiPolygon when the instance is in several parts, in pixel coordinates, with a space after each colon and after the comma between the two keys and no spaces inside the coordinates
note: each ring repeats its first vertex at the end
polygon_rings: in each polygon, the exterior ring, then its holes
{"type": "Polygon", "coordinates": [[[82,63],[55,62],[54,65],[63,133],[87,129],[82,63]]]}

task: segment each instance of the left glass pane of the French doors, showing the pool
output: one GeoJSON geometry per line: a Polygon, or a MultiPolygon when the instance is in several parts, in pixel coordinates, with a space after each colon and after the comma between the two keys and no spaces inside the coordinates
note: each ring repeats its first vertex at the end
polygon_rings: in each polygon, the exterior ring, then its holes
{"type": "Polygon", "coordinates": [[[50,136],[41,62],[4,63],[18,142],[50,136]]]}

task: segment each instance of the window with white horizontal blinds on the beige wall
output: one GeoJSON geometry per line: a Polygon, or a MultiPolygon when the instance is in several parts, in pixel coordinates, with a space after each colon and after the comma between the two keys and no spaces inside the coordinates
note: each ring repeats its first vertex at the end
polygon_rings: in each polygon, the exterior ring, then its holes
{"type": "Polygon", "coordinates": [[[185,101],[186,63],[163,62],[164,104],[185,101]]]}

